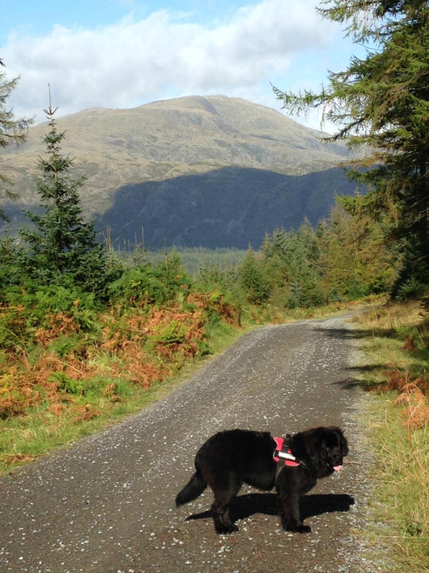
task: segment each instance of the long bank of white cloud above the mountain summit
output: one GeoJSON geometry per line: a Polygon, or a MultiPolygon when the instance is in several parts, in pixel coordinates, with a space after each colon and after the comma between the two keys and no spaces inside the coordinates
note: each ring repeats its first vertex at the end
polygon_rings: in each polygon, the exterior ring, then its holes
{"type": "Polygon", "coordinates": [[[336,35],[337,27],[322,21],[314,5],[265,0],[211,28],[161,10],[95,30],[57,25],[45,37],[14,33],[2,48],[8,76],[21,74],[11,101],[17,115],[37,114],[38,121],[44,119],[48,83],[59,115],[213,93],[279,109],[269,81],[287,77],[297,54],[307,50],[315,57],[336,35]]]}

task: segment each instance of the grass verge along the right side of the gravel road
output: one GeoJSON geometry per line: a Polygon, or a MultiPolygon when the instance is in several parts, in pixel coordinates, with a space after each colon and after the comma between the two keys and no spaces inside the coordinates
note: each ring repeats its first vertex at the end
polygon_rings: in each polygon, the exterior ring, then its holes
{"type": "Polygon", "coordinates": [[[374,390],[366,414],[375,454],[375,547],[386,571],[429,571],[428,320],[419,303],[390,304],[354,319],[364,360],[359,383],[374,390]],[[381,527],[380,527],[381,524],[381,527]]]}

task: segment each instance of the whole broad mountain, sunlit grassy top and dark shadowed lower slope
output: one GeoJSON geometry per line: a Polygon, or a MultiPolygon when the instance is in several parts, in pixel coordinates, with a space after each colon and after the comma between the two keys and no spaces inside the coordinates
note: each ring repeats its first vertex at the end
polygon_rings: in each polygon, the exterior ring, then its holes
{"type": "MultiPolygon", "coordinates": [[[[190,96],[133,109],[92,108],[60,117],[62,152],[85,173],[82,206],[114,238],[133,240],[145,227],[148,245],[259,246],[265,230],[297,226],[328,214],[336,193],[352,193],[343,144],[274,109],[226,96],[190,96]]],[[[0,155],[18,203],[3,201],[21,223],[34,209],[34,176],[46,124],[0,155]]]]}

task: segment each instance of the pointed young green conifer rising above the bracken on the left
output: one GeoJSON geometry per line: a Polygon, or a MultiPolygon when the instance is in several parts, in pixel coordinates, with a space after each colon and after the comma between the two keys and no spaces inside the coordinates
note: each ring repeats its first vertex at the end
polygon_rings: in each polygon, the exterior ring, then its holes
{"type": "Polygon", "coordinates": [[[20,231],[30,246],[27,272],[45,284],[54,281],[64,286],[78,285],[100,294],[108,280],[107,265],[104,249],[97,244],[94,222],[85,222],[82,215],[78,190],[85,176],[70,177],[73,160],[61,154],[59,144],[65,135],[57,131],[57,110],[49,101],[49,109],[43,111],[50,131],[43,139],[47,158],[38,162],[43,175],[37,181],[37,192],[45,212],[38,215],[26,211],[37,229],[20,231]]]}

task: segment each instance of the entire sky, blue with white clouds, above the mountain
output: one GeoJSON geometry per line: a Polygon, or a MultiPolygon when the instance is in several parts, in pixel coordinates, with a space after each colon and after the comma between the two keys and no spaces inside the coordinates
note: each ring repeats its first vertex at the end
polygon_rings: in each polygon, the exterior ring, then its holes
{"type": "MultiPolygon", "coordinates": [[[[315,0],[0,1],[0,57],[15,115],[58,115],[222,93],[281,108],[280,89],[317,89],[362,48],[315,13],[315,0]]],[[[301,123],[319,127],[317,113],[301,123]]],[[[325,129],[332,131],[332,126],[325,129]]]]}

